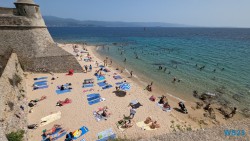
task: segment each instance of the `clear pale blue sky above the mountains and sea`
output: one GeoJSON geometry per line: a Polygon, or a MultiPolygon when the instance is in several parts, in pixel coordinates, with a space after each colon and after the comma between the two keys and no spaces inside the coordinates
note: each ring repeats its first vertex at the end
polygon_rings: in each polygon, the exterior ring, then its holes
{"type": "MultiPolygon", "coordinates": [[[[15,0],[0,0],[14,7],[15,0]]],[[[35,0],[42,15],[77,20],[250,27],[250,0],[35,0]]]]}

